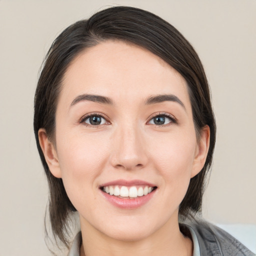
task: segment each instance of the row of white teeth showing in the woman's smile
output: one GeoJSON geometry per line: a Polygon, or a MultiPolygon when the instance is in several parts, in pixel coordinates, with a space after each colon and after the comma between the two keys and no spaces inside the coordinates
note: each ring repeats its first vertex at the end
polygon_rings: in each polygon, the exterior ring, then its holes
{"type": "Polygon", "coordinates": [[[153,190],[152,186],[145,186],[144,188],[142,186],[139,186],[138,188],[136,186],[121,186],[119,188],[118,185],[115,186],[103,186],[102,190],[110,195],[115,196],[121,196],[121,197],[138,197],[147,195],[148,193],[151,193],[153,190]]]}

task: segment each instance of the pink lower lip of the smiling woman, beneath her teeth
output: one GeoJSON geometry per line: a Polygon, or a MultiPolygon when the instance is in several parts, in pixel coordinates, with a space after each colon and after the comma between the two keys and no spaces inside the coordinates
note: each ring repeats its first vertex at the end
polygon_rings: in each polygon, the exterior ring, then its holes
{"type": "Polygon", "coordinates": [[[147,203],[152,196],[155,193],[154,189],[152,192],[148,193],[147,195],[143,195],[143,196],[138,196],[138,197],[134,197],[134,198],[119,198],[117,196],[114,195],[110,195],[108,193],[105,193],[104,191],[101,191],[101,193],[103,194],[103,196],[114,206],[122,208],[122,209],[135,209],[138,208],[142,205],[144,205],[145,203],[147,203]]]}

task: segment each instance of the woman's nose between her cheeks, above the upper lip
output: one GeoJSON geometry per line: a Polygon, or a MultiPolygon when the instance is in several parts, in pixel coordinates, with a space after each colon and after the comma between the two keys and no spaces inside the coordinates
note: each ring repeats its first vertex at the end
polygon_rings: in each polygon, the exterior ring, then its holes
{"type": "Polygon", "coordinates": [[[142,131],[134,126],[117,128],[114,132],[110,164],[115,168],[134,170],[148,162],[142,131]]]}

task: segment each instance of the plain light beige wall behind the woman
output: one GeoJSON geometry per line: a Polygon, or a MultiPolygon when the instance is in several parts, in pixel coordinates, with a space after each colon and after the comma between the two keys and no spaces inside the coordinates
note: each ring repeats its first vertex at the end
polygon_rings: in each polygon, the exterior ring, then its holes
{"type": "Polygon", "coordinates": [[[217,121],[203,215],[256,224],[256,0],[0,0],[0,255],[49,255],[47,184],[32,129],[38,69],[62,29],[116,4],[158,14],[195,47],[217,121]]]}

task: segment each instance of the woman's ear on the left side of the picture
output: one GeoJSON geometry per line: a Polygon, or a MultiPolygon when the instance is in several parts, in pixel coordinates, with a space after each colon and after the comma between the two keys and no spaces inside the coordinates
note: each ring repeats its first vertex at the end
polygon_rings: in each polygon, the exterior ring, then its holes
{"type": "Polygon", "coordinates": [[[61,171],[56,149],[52,142],[49,140],[44,128],[40,128],[38,130],[38,138],[42,152],[44,154],[44,158],[47,162],[51,174],[56,178],[61,178],[61,171]]]}

